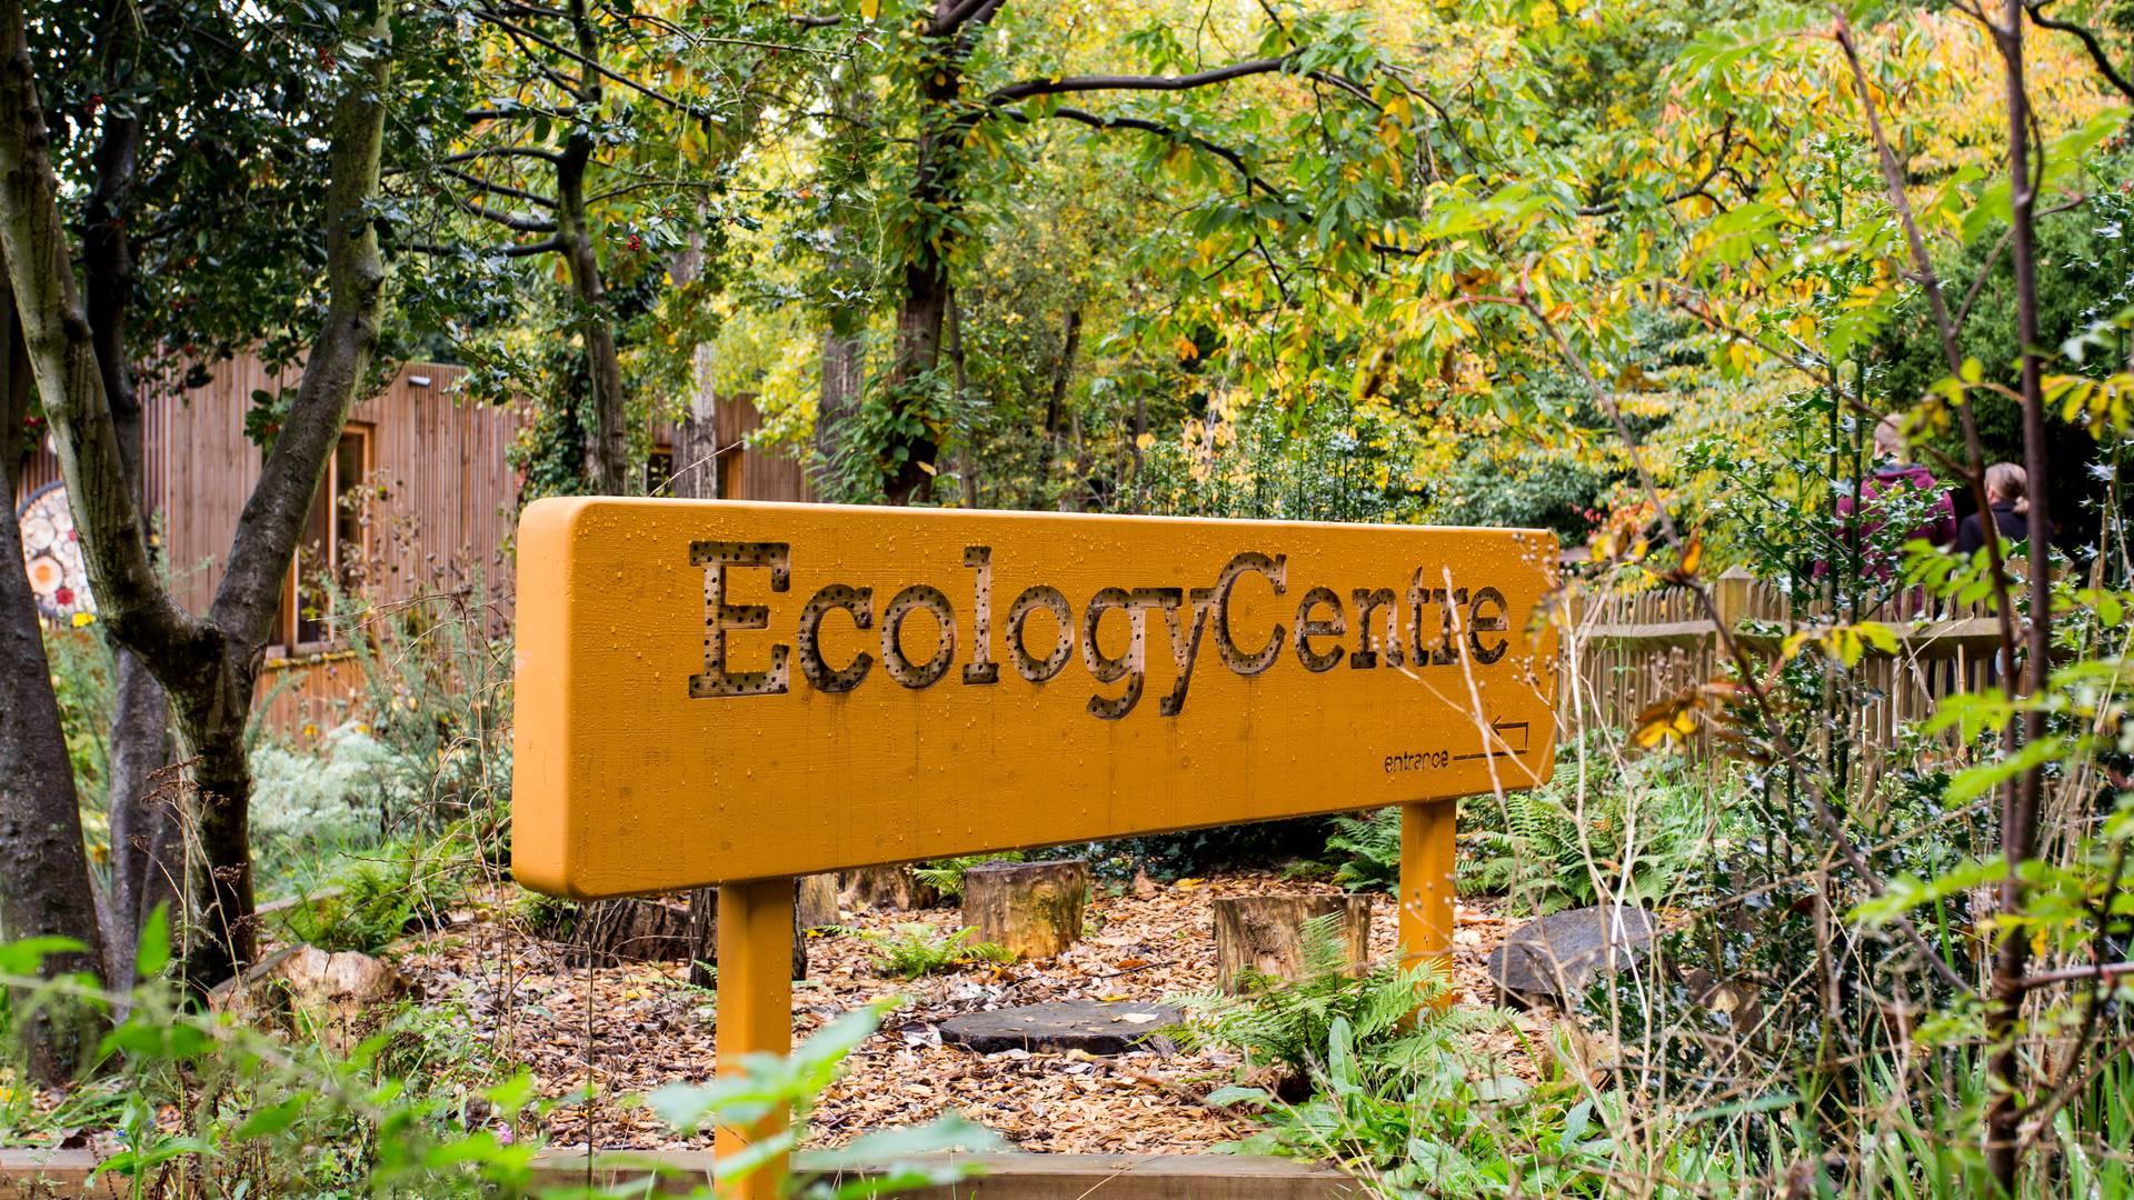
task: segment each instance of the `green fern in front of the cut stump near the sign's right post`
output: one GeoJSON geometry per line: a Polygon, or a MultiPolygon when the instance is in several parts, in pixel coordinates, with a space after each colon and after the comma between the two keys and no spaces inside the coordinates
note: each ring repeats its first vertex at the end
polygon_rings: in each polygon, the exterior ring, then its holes
{"type": "Polygon", "coordinates": [[[1251,1065],[1276,1065],[1285,1072],[1285,1091],[1308,1087],[1312,1072],[1325,1065],[1336,1025],[1349,1029],[1357,1053],[1385,1061],[1436,1044],[1445,1036],[1443,1019],[1411,1023],[1411,1016],[1451,989],[1445,967],[1432,959],[1402,965],[1394,954],[1361,978],[1353,976],[1340,920],[1342,914],[1329,912],[1304,922],[1295,980],[1248,972],[1240,995],[1176,997],[1184,1010],[1178,1042],[1238,1051],[1251,1065]]]}

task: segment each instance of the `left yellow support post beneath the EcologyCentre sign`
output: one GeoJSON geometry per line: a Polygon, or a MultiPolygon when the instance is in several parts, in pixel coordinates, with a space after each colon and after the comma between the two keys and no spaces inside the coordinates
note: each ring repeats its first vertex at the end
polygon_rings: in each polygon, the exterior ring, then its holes
{"type": "MultiPolygon", "coordinates": [[[[719,1021],[713,1029],[719,1074],[736,1074],[753,1053],[792,1051],[792,954],[794,882],[751,880],[719,888],[719,1021]]],[[[719,1125],[713,1149],[719,1157],[740,1153],[749,1142],[775,1136],[787,1112],[764,1112],[749,1127],[719,1125]]],[[[721,1200],[777,1200],[785,1174],[783,1159],[764,1164],[719,1187],[721,1200]]]]}

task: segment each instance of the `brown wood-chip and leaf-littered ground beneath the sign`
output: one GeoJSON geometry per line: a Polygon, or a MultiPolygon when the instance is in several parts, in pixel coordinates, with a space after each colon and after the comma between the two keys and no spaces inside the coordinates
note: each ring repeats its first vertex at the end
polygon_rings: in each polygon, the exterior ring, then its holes
{"type": "MultiPolygon", "coordinates": [[[[1157,1001],[1214,986],[1214,918],[1210,899],[1236,893],[1312,893],[1323,884],[1272,875],[1227,875],[1148,884],[1105,895],[1090,905],[1082,944],[1046,963],[967,967],[920,980],[886,978],[869,946],[851,933],[809,942],[811,978],[794,991],[794,1036],[877,997],[907,1004],[849,1061],[849,1074],[824,1098],[813,1119],[813,1144],[839,1144],[869,1130],[909,1125],[958,1110],[1029,1151],[1150,1153],[1204,1151],[1251,1132],[1236,1115],[1199,1102],[1231,1083],[1238,1061],[1219,1053],[1133,1053],[1095,1059],[1080,1053],[973,1055],[943,1046],[937,1023],[958,1012],[1052,999],[1157,1001]]],[[[956,929],[956,910],[913,914],[847,912],[854,929],[926,922],[956,929]]],[[[1394,950],[1396,914],[1374,897],[1372,954],[1394,950]]],[[[1487,954],[1504,922],[1487,907],[1462,903],[1455,974],[1462,1001],[1487,1004],[1487,954]]],[[[465,1012],[469,1036],[493,1042],[504,1061],[527,1063],[551,1098],[589,1080],[593,1104],[568,1104],[548,1117],[551,1144],[655,1149],[676,1142],[640,1106],[625,1102],[664,1083],[702,1083],[713,1074],[717,995],[691,989],[683,965],[563,965],[557,946],[504,922],[465,922],[408,946],[399,965],[420,986],[425,1004],[465,1012]],[[591,1021],[587,1019],[591,995],[591,1021]]],[[[1532,1019],[1517,1021],[1528,1033],[1532,1019]]],[[[1532,1076],[1522,1036],[1507,1021],[1477,1033],[1494,1068],[1532,1076]]]]}

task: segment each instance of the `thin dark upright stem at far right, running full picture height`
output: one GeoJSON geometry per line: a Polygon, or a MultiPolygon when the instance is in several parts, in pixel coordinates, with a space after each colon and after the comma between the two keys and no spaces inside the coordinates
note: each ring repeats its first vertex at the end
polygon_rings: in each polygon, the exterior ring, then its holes
{"type": "MultiPolygon", "coordinates": [[[[2023,70],[2023,0],[2008,0],[2002,28],[1995,30],[2008,85],[2008,258],[2014,267],[2017,346],[2021,348],[2023,393],[2023,470],[2029,474],[2029,636],[2025,645],[2023,692],[2042,696],[2051,675],[2053,649],[2053,478],[2051,444],[2044,427],[2044,393],[2038,378],[2038,248],[2036,192],[2029,167],[2029,96],[2023,70]]],[[[1985,515],[1993,527],[1991,512],[1985,515]]],[[[2044,711],[2023,713],[2023,743],[2044,737],[2044,711]]],[[[2002,858],[2008,875],[2002,880],[2000,907],[2008,916],[2025,912],[2027,895],[2023,865],[2038,852],[2038,814],[2044,792],[2044,767],[2034,764],[2002,792],[2002,858]]],[[[2025,1112],[2023,1076],[2023,976],[2029,969],[2029,937],[2021,927],[2002,935],[1993,954],[1991,997],[1987,1004],[1987,1044],[1993,1051],[1987,1104],[1987,1168],[2002,1194],[2014,1196],[2023,1170],[2021,1138],[2025,1112]]]]}

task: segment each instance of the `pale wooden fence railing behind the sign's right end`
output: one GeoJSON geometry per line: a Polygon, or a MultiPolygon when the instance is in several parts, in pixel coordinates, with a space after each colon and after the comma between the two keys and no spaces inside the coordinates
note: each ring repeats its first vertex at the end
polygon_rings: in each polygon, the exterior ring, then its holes
{"type": "MultiPolygon", "coordinates": [[[[1786,596],[1778,587],[1729,572],[1711,585],[1718,619],[1758,662],[1780,651],[1788,632],[1818,634],[1840,623],[1876,621],[1895,636],[1895,653],[1863,647],[1857,666],[1857,705],[1833,705],[1846,728],[1831,737],[1874,754],[1910,722],[1929,717],[1950,694],[1972,692],[1995,679],[2000,621],[1982,606],[1950,606],[1921,589],[1899,589],[1889,602],[1835,621],[1818,600],[1786,596]]],[[[1714,613],[1688,587],[1647,591],[1573,583],[1558,611],[1564,670],[1558,698],[1560,728],[1633,728],[1650,707],[1722,675],[1714,613]]]]}

